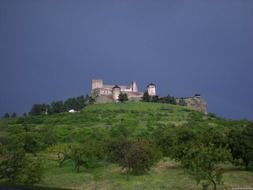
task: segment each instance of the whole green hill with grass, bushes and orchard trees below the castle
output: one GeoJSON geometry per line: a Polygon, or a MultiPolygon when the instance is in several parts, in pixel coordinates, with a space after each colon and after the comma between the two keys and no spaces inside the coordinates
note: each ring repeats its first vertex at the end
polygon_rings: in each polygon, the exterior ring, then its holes
{"type": "Polygon", "coordinates": [[[250,121],[154,102],[3,118],[0,183],[74,189],[249,187],[252,130],[250,121]]]}

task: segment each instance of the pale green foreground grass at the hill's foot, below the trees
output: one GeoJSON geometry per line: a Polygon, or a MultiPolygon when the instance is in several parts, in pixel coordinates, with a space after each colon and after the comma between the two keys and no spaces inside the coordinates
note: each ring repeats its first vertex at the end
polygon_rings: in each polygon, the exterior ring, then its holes
{"type": "MultiPolygon", "coordinates": [[[[60,168],[56,162],[49,161],[45,169],[45,177],[39,185],[88,190],[201,189],[177,163],[170,160],[160,161],[151,171],[139,176],[127,176],[114,164],[102,164],[98,168],[82,169],[77,173],[71,164],[68,162],[60,168]]],[[[223,179],[224,183],[218,189],[253,187],[253,173],[249,171],[228,168],[223,179]]]]}

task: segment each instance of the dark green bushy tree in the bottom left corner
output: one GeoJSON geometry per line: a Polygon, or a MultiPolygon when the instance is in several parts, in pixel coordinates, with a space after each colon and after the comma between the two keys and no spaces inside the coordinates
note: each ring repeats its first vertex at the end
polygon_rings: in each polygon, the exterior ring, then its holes
{"type": "Polygon", "coordinates": [[[24,137],[6,137],[0,152],[0,179],[11,184],[34,184],[41,180],[41,162],[30,157],[24,149],[24,137]]]}

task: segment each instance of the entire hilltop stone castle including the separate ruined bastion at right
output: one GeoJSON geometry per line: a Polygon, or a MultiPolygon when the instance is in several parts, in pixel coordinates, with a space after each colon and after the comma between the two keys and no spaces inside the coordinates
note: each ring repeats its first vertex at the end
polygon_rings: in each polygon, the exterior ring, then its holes
{"type": "MultiPolygon", "coordinates": [[[[149,96],[156,96],[155,84],[150,83],[147,85],[146,91],[149,96]]],[[[91,82],[91,96],[96,103],[118,102],[120,93],[127,94],[129,101],[140,101],[144,94],[138,91],[135,81],[130,85],[108,85],[104,84],[101,79],[92,80],[91,82]]],[[[176,102],[179,103],[181,99],[184,100],[186,106],[207,113],[207,103],[199,94],[192,97],[176,98],[176,102]]]]}

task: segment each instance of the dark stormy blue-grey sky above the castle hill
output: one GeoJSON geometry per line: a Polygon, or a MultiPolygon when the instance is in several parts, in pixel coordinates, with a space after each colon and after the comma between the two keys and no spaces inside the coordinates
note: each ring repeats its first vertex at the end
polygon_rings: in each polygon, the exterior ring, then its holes
{"type": "Polygon", "coordinates": [[[0,0],[0,116],[86,95],[92,79],[200,93],[253,120],[252,0],[0,0]]]}

